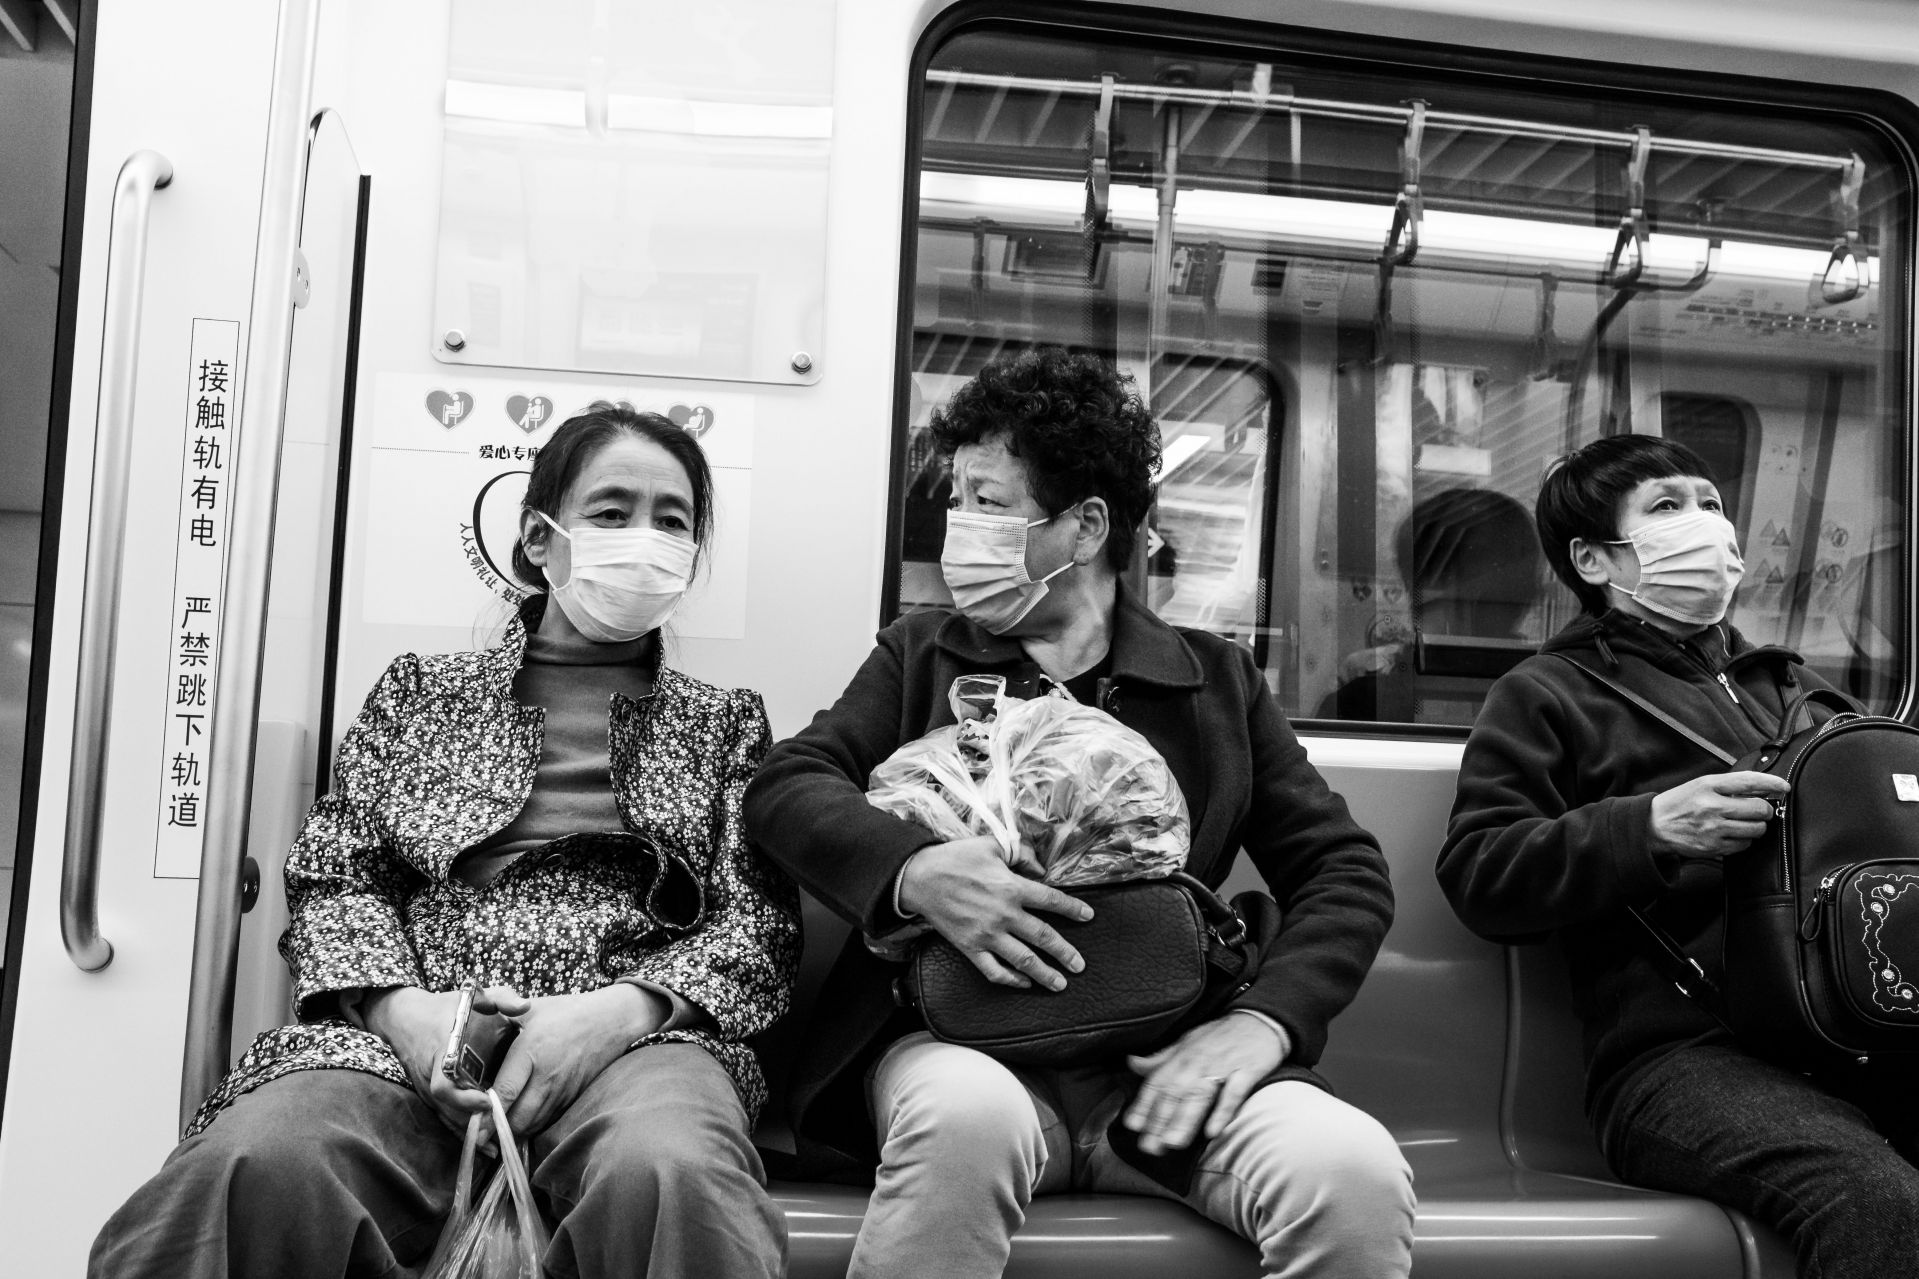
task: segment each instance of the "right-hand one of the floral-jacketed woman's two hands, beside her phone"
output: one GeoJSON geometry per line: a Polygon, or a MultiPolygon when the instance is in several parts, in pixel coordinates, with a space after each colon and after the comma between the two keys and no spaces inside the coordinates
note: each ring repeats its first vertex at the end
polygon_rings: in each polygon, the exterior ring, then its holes
{"type": "Polygon", "coordinates": [[[476,999],[474,1010],[501,1012],[520,1026],[493,1091],[522,1139],[553,1123],[635,1039],[674,1014],[666,997],[628,981],[541,999],[497,987],[476,999]]]}

